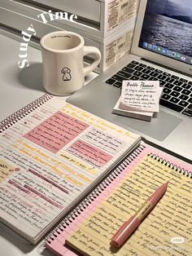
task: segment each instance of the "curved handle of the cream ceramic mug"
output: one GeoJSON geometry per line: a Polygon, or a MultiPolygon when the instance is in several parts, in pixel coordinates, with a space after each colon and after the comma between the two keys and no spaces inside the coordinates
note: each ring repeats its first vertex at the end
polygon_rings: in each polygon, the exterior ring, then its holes
{"type": "Polygon", "coordinates": [[[84,71],[84,76],[88,75],[88,73],[90,73],[91,71],[94,70],[94,68],[96,68],[101,60],[101,52],[98,50],[97,47],[94,46],[84,46],[84,51],[83,51],[83,55],[89,55],[90,53],[94,54],[96,56],[96,58],[94,59],[94,61],[92,62],[92,64],[89,64],[88,66],[86,66],[85,68],[83,68],[84,71]]]}

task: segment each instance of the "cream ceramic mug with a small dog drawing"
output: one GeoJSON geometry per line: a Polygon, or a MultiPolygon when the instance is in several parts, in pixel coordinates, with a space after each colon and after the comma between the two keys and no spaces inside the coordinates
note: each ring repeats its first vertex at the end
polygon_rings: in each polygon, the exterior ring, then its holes
{"type": "Polygon", "coordinates": [[[53,95],[71,95],[81,89],[85,76],[96,68],[101,53],[94,46],[84,46],[77,33],[56,31],[41,38],[43,86],[53,95]],[[92,64],[83,66],[83,57],[94,54],[92,64]]]}

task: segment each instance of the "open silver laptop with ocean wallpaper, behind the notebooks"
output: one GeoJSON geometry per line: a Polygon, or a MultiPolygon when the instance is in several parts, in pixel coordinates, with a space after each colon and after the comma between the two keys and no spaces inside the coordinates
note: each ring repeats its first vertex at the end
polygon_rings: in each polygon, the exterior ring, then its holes
{"type": "Polygon", "coordinates": [[[68,103],[137,132],[192,160],[192,6],[188,0],[142,0],[129,55],[68,98],[68,103]],[[112,113],[123,80],[159,80],[152,121],[112,113]]]}

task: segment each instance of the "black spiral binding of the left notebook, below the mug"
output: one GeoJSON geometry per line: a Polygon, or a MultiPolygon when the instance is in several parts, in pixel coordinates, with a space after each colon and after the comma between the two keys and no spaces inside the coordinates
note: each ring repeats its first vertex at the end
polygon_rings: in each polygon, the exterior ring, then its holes
{"type": "Polygon", "coordinates": [[[11,114],[11,116],[0,122],[0,133],[4,130],[7,130],[10,126],[14,125],[15,122],[19,121],[21,118],[27,116],[29,113],[33,112],[36,108],[40,107],[42,104],[45,104],[46,101],[51,99],[53,96],[49,94],[42,95],[40,98],[34,100],[32,103],[26,105],[24,108],[11,114]]]}

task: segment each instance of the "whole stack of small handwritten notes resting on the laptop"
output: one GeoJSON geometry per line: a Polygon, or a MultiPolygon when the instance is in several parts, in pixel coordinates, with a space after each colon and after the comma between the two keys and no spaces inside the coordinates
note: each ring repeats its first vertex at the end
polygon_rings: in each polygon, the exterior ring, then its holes
{"type": "Polygon", "coordinates": [[[151,121],[159,112],[159,97],[162,87],[159,81],[123,81],[120,99],[113,113],[151,121]]]}

